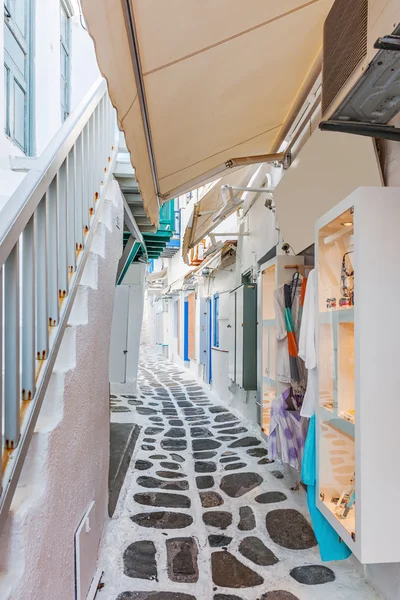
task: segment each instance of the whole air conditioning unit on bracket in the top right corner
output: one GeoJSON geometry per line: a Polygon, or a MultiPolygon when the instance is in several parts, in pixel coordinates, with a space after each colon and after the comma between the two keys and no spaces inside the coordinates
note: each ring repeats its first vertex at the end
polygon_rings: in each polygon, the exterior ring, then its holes
{"type": "Polygon", "coordinates": [[[400,141],[400,1],[335,0],[324,25],[320,128],[400,141]]]}

